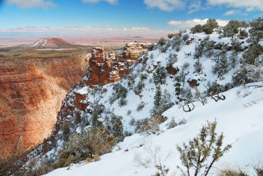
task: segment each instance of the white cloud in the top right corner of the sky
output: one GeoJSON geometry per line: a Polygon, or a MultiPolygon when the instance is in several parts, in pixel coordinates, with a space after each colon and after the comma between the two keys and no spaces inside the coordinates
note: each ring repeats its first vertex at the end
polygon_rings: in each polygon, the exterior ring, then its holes
{"type": "Polygon", "coordinates": [[[262,0],[208,0],[208,4],[212,6],[228,6],[230,8],[245,8],[250,12],[253,10],[263,11],[262,0]]]}

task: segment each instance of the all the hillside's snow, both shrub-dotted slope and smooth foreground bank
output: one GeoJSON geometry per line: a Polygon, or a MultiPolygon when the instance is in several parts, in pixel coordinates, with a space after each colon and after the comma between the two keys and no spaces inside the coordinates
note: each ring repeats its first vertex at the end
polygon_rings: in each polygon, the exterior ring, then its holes
{"type": "MultiPolygon", "coordinates": [[[[217,166],[223,163],[247,164],[251,162],[252,158],[263,156],[263,141],[259,140],[262,138],[263,133],[263,88],[252,86],[252,84],[248,85],[251,87],[230,89],[234,86],[232,84],[233,74],[241,67],[240,60],[242,54],[249,45],[246,39],[240,39],[242,49],[237,53],[235,67],[228,68],[228,72],[223,77],[218,78],[217,74],[212,73],[212,68],[216,64],[212,60],[212,57],[203,54],[199,59],[194,58],[196,47],[201,44],[201,41],[207,39],[208,35],[204,33],[192,34],[189,31],[183,33],[183,35],[189,35],[189,39],[188,41],[181,40],[179,42],[179,51],[173,45],[176,42],[176,37],[174,37],[168,40],[165,45],[155,47],[153,51],[148,51],[142,55],[138,62],[131,67],[129,75],[119,82],[91,89],[85,83],[85,81],[89,80],[89,76],[84,76],[82,81],[69,91],[62,103],[62,110],[57,116],[58,121],[51,135],[52,141],[49,141],[51,143],[51,146],[49,146],[50,151],[46,153],[48,159],[51,159],[53,162],[59,161],[59,152],[65,142],[63,137],[64,123],[70,124],[71,134],[81,133],[82,130],[91,126],[84,127],[83,124],[87,124],[87,121],[92,121],[91,112],[96,110],[95,108],[100,104],[105,107],[102,114],[100,114],[100,121],[104,121],[105,123],[105,119],[111,114],[122,116],[124,132],[133,135],[126,137],[123,142],[118,143],[120,150],[116,147],[113,152],[102,155],[100,161],[91,164],[82,161],[82,163],[75,164],[70,168],[54,170],[48,175],[152,175],[156,172],[154,163],[150,164],[149,168],[138,167],[138,162],[134,163],[134,157],[141,155],[143,159],[151,159],[150,154],[154,152],[154,149],[161,150],[156,157],[156,164],[161,162],[161,164],[170,168],[171,174],[179,175],[176,166],[180,165],[181,162],[176,145],[181,145],[183,141],[186,142],[197,135],[199,129],[202,125],[206,124],[207,120],[214,121],[215,119],[217,119],[218,123],[218,132],[224,132],[226,135],[225,144],[233,143],[233,148],[224,155],[224,158],[217,163],[217,166]],[[165,51],[163,51],[164,48],[165,51]],[[130,122],[151,116],[151,110],[154,107],[154,95],[156,94],[154,73],[156,73],[158,68],[166,68],[169,65],[168,62],[171,54],[177,55],[177,61],[172,64],[172,67],[178,68],[179,72],[176,75],[166,73],[165,83],[161,85],[162,92],[166,89],[173,103],[172,107],[163,113],[163,116],[167,116],[167,121],[160,125],[161,132],[158,135],[136,134],[136,125],[130,122]],[[202,64],[202,69],[197,73],[194,64],[198,60],[202,64]],[[179,98],[185,97],[182,94],[178,97],[174,86],[176,85],[176,76],[180,73],[185,73],[185,80],[181,82],[181,88],[185,91],[190,91],[193,95],[196,93],[196,90],[190,87],[191,80],[197,81],[198,86],[196,88],[200,93],[207,91],[208,82],[217,82],[221,86],[229,85],[227,90],[230,90],[223,93],[226,96],[226,100],[219,100],[216,103],[208,96],[208,103],[202,105],[198,98],[192,98],[192,103],[195,106],[194,110],[184,112],[183,108],[179,107],[180,105],[184,105],[185,100],[180,102],[179,98]],[[143,75],[147,78],[142,79],[143,75]],[[144,87],[140,94],[138,94],[136,93],[136,89],[141,82],[143,82],[144,87]],[[116,98],[116,85],[121,85],[127,89],[126,105],[120,106],[120,98],[116,98]],[[240,92],[240,95],[237,95],[237,92],[240,92]],[[84,97],[81,103],[89,104],[83,111],[77,108],[76,94],[84,97]],[[138,109],[139,105],[143,105],[143,108],[138,109]],[[79,112],[84,120],[82,123],[76,124],[75,116],[79,112]],[[185,118],[186,124],[167,130],[166,124],[172,118],[177,122],[185,118]]],[[[219,34],[215,32],[209,35],[209,41],[214,42],[215,46],[226,45],[226,57],[229,61],[230,55],[233,53],[230,38],[220,38],[219,34]]],[[[262,42],[260,44],[262,45],[262,42]]],[[[213,51],[217,53],[221,52],[221,49],[213,48],[213,51]]],[[[258,70],[260,75],[257,75],[256,80],[263,81],[262,65],[258,67],[258,70]]],[[[251,76],[253,77],[253,75],[251,76]]],[[[254,84],[262,85],[262,82],[254,84]]],[[[28,156],[37,157],[39,160],[41,160],[40,158],[43,159],[45,153],[44,155],[39,155],[42,152],[42,147],[44,148],[45,146],[39,146],[39,148],[33,150],[28,156]]]]}

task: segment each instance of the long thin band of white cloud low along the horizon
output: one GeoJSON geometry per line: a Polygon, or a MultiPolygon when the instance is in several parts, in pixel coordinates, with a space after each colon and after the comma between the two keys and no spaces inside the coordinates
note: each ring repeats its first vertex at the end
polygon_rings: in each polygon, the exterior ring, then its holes
{"type": "Polygon", "coordinates": [[[68,27],[68,28],[37,28],[35,26],[19,26],[17,28],[0,28],[0,33],[51,33],[51,34],[130,34],[130,35],[167,35],[167,33],[174,33],[171,30],[156,30],[147,27],[131,27],[131,28],[114,28],[114,27],[104,27],[96,28],[93,26],[83,26],[83,27],[68,27]]]}

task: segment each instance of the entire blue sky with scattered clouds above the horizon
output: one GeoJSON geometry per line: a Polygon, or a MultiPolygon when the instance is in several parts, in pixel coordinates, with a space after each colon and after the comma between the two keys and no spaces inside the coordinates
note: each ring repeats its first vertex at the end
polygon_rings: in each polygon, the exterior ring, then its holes
{"type": "Polygon", "coordinates": [[[263,17],[263,0],[0,0],[0,34],[155,35],[263,17]]]}

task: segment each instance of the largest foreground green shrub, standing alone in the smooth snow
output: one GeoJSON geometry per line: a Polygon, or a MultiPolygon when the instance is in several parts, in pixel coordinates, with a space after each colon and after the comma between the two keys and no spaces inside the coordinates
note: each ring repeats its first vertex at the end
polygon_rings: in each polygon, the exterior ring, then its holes
{"type": "Polygon", "coordinates": [[[216,122],[208,122],[203,125],[197,137],[183,146],[176,146],[180,153],[181,164],[186,170],[177,166],[183,175],[208,175],[210,169],[225,152],[228,152],[231,145],[222,147],[224,134],[217,135],[215,132],[216,122]]]}

